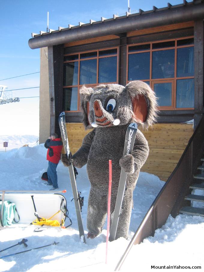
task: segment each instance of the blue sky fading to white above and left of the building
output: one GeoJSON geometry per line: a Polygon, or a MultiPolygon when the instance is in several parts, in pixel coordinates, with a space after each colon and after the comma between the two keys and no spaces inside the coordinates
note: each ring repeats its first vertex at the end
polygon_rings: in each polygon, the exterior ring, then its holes
{"type": "MultiPolygon", "coordinates": [[[[189,0],[188,0],[189,1],[189,0]]],[[[130,0],[131,12],[139,8],[151,10],[167,6],[164,0],[130,0]]],[[[182,4],[182,0],[170,0],[172,5],[182,4]]],[[[112,18],[113,14],[122,15],[128,11],[128,0],[0,0],[1,42],[0,42],[0,85],[8,89],[37,87],[40,74],[21,76],[40,71],[40,51],[30,49],[28,40],[31,33],[46,31],[47,12],[49,28],[78,25],[79,21],[88,23],[89,19],[99,21],[101,17],[112,18]]],[[[151,26],[151,25],[150,25],[151,26]]],[[[39,88],[15,91],[13,97],[39,96],[39,88]]],[[[0,135],[23,135],[39,133],[39,98],[24,98],[20,102],[0,105],[0,135]],[[8,122],[9,120],[9,122],[8,122]]]]}

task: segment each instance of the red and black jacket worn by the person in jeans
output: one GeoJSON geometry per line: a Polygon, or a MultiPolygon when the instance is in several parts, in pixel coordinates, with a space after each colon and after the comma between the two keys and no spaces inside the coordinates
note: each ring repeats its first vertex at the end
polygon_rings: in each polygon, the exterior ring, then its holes
{"type": "Polygon", "coordinates": [[[61,157],[62,142],[61,138],[56,138],[54,140],[47,139],[45,144],[47,150],[47,160],[52,163],[58,163],[61,157]]]}

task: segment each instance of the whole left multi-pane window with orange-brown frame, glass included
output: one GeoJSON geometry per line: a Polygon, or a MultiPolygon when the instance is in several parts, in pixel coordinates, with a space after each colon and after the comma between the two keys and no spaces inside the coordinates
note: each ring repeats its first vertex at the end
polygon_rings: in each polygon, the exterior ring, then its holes
{"type": "Polygon", "coordinates": [[[79,111],[79,88],[118,83],[118,47],[64,55],[63,109],[79,111]]]}

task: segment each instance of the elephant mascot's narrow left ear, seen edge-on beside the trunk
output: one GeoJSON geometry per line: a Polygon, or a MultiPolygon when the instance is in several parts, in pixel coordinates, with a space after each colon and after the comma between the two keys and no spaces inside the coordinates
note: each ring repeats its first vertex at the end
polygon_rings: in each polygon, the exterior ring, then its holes
{"type": "Polygon", "coordinates": [[[89,122],[88,122],[88,114],[89,114],[89,100],[91,98],[91,94],[93,92],[92,88],[86,88],[85,85],[81,87],[79,90],[80,94],[80,101],[81,101],[81,111],[83,114],[83,124],[85,126],[85,129],[91,128],[89,122]]]}

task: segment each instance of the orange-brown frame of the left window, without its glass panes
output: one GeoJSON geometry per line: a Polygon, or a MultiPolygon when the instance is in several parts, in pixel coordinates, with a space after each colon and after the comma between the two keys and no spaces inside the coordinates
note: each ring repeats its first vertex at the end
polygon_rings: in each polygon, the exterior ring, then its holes
{"type": "MultiPolygon", "coordinates": [[[[106,47],[106,48],[100,48],[100,49],[93,49],[93,50],[86,50],[86,51],[80,51],[80,52],[76,52],[76,53],[70,53],[70,54],[64,54],[64,57],[66,56],[71,56],[71,55],[78,55],[78,59],[76,60],[70,60],[70,61],[63,61],[63,65],[64,63],[70,63],[70,62],[76,62],[78,61],[78,84],[77,85],[69,85],[69,86],[64,86],[63,85],[63,92],[64,92],[64,88],[73,88],[73,87],[78,87],[78,101],[77,101],[77,110],[72,110],[72,111],[64,111],[64,112],[81,112],[80,110],[80,103],[79,103],[79,89],[84,85],[84,84],[79,84],[80,83],[80,61],[85,61],[85,60],[90,60],[90,59],[97,59],[97,67],[96,67],[96,83],[91,83],[91,84],[85,84],[86,87],[91,87],[94,88],[98,85],[101,84],[118,84],[119,82],[119,46],[113,46],[113,47],[106,47]],[[99,57],[99,52],[100,51],[106,51],[106,50],[110,50],[110,49],[117,49],[117,53],[116,54],[112,54],[112,55],[105,55],[105,56],[100,56],[99,57]],[[91,57],[91,58],[80,58],[81,54],[84,53],[91,53],[91,52],[97,52],[97,56],[95,57],[91,57]],[[110,57],[117,57],[117,71],[116,71],[116,82],[100,82],[98,83],[98,72],[99,72],[99,59],[100,58],[110,58],[110,57]]],[[[64,71],[64,70],[63,70],[64,71]]]]}

